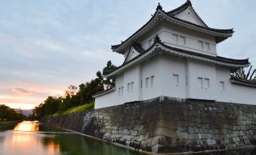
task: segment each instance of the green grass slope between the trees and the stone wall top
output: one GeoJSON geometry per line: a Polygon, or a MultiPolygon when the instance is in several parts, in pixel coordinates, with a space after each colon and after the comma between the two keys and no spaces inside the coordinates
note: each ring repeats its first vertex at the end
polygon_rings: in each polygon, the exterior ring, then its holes
{"type": "Polygon", "coordinates": [[[80,105],[80,106],[77,106],[77,107],[69,108],[66,111],[57,111],[57,113],[55,113],[51,116],[71,114],[71,113],[76,113],[76,112],[88,111],[88,110],[92,110],[92,109],[94,109],[94,102],[89,102],[85,105],[80,105]]]}

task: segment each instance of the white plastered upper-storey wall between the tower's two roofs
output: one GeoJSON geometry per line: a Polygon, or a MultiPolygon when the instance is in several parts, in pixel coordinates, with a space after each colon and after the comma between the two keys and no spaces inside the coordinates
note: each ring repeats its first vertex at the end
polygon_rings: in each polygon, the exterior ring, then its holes
{"type": "Polygon", "coordinates": [[[168,46],[210,56],[217,55],[214,36],[191,32],[188,29],[182,29],[171,23],[162,23],[156,26],[156,28],[152,29],[146,35],[143,35],[143,37],[137,41],[142,45],[144,50],[147,50],[150,45],[153,44],[156,34],[158,34],[161,41],[168,46]]]}

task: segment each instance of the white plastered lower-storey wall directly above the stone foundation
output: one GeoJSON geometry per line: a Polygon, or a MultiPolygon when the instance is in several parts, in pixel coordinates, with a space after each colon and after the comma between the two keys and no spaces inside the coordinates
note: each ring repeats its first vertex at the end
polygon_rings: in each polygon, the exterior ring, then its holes
{"type": "Polygon", "coordinates": [[[230,83],[230,68],[210,63],[160,54],[116,76],[116,90],[95,98],[95,108],[125,102],[169,96],[181,99],[206,99],[256,105],[256,88],[230,83]],[[174,81],[178,75],[178,85],[174,81]],[[153,78],[151,86],[150,78],[153,78]],[[146,78],[149,78],[148,87],[146,78]],[[199,83],[202,78],[202,85],[199,83]],[[140,80],[142,79],[142,88],[140,80]],[[209,86],[205,84],[208,79],[209,86]],[[128,83],[134,82],[128,93],[128,83]],[[224,90],[220,82],[224,82],[224,90]],[[124,87],[119,95],[119,87],[124,87]]]}

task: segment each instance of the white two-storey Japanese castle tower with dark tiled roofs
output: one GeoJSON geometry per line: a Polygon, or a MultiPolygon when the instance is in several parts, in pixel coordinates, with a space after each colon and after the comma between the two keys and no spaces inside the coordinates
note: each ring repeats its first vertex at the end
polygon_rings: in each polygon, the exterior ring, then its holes
{"type": "Polygon", "coordinates": [[[159,96],[256,104],[255,82],[230,78],[248,59],[217,56],[217,44],[232,35],[208,27],[190,1],[168,12],[158,5],[144,26],[112,46],[125,61],[105,75],[116,87],[95,94],[95,108],[159,96]]]}

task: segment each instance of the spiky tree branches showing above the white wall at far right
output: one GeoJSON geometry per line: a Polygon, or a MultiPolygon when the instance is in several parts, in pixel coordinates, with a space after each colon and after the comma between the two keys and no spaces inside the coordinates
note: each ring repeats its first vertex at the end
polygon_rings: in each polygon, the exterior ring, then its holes
{"type": "Polygon", "coordinates": [[[248,69],[247,72],[245,71],[245,68],[240,68],[239,70],[231,73],[231,77],[241,78],[248,81],[256,81],[256,68],[252,72],[251,72],[251,68],[252,68],[252,65],[250,65],[250,68],[248,69]]]}

